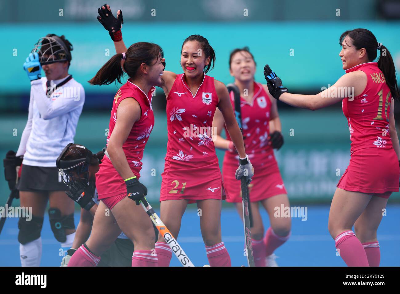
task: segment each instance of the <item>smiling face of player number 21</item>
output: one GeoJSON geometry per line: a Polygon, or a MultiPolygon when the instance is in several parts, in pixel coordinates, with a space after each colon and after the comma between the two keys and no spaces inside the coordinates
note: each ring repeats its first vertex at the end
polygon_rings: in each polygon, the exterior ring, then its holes
{"type": "Polygon", "coordinates": [[[203,54],[201,44],[197,41],[188,41],[182,47],[180,65],[187,78],[196,78],[203,74],[204,68],[210,63],[210,56],[203,54]]]}

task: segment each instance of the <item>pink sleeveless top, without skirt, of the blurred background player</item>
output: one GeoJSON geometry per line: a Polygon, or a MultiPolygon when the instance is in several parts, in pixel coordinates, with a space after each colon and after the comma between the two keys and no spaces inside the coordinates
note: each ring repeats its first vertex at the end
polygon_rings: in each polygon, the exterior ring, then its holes
{"type": "MultiPolygon", "coordinates": [[[[230,100],[234,108],[233,92],[230,93],[230,100]]],[[[240,97],[240,107],[242,110],[242,129],[244,136],[244,146],[250,161],[254,165],[264,166],[274,163],[274,151],[268,144],[269,120],[272,102],[265,92],[262,84],[254,82],[254,95],[251,103],[240,97]]],[[[225,129],[226,130],[226,129],[225,129]]],[[[226,139],[231,140],[228,132],[226,139]]],[[[236,152],[225,152],[224,161],[238,163],[239,157],[236,152]]]]}

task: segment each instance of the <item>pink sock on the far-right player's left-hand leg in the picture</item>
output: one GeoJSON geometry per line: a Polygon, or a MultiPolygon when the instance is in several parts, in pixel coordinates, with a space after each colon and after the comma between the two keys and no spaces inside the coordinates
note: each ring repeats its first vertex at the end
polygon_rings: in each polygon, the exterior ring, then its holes
{"type": "Polygon", "coordinates": [[[335,238],[335,246],[347,266],[369,266],[367,254],[353,231],[345,231],[335,238]]]}

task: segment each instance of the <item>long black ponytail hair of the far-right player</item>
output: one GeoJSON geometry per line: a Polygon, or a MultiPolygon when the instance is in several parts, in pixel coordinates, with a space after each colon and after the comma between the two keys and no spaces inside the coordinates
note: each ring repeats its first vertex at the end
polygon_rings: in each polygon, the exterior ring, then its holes
{"type": "Polygon", "coordinates": [[[395,100],[398,100],[400,95],[397,85],[396,68],[394,67],[393,58],[389,50],[383,46],[382,43],[378,43],[372,32],[364,28],[356,28],[344,32],[339,38],[340,46],[342,46],[343,40],[346,36],[349,36],[357,50],[365,48],[370,62],[376,59],[376,50],[379,50],[380,56],[378,59],[378,67],[386,79],[386,84],[390,88],[392,97],[395,100]]]}

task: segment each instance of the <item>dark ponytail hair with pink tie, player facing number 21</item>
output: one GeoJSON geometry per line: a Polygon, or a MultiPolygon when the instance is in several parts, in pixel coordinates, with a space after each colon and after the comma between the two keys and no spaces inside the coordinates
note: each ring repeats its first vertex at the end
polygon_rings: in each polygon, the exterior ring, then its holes
{"type": "MultiPolygon", "coordinates": [[[[137,42],[132,44],[125,53],[124,71],[130,78],[134,78],[140,65],[145,63],[153,65],[154,58],[162,59],[164,52],[161,47],[154,43],[137,42]]],[[[124,71],[121,66],[123,53],[115,54],[106,62],[97,72],[97,74],[88,82],[92,85],[109,85],[118,81],[121,84],[121,77],[124,71]]]]}

